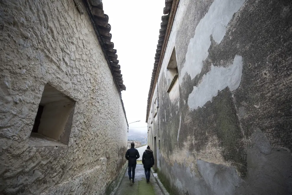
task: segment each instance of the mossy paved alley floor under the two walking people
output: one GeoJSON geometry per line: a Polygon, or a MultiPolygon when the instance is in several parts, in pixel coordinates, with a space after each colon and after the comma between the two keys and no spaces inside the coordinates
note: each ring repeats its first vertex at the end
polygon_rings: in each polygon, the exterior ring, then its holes
{"type": "Polygon", "coordinates": [[[150,182],[146,183],[143,165],[141,161],[137,161],[137,166],[135,169],[135,183],[130,186],[127,167],[126,173],[117,191],[117,195],[163,195],[163,193],[156,183],[152,173],[150,176],[150,182]]]}

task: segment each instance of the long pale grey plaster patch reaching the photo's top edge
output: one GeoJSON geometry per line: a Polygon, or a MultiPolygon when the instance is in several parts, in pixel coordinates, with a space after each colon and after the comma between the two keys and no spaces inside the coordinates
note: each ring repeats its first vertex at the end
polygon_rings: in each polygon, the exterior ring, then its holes
{"type": "Polygon", "coordinates": [[[186,61],[181,69],[179,82],[181,83],[186,73],[195,78],[203,67],[203,61],[209,55],[211,45],[210,35],[216,43],[220,43],[225,36],[226,26],[245,0],[215,0],[208,12],[196,27],[195,35],[190,40],[186,61]]]}

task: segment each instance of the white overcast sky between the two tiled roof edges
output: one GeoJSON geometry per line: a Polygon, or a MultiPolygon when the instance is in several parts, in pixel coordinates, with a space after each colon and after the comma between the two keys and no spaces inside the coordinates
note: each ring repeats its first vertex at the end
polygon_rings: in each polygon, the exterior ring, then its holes
{"type": "Polygon", "coordinates": [[[146,107],[165,0],[103,0],[126,91],[122,99],[130,131],[147,132],[146,107]],[[145,128],[131,128],[145,127],[145,128]]]}

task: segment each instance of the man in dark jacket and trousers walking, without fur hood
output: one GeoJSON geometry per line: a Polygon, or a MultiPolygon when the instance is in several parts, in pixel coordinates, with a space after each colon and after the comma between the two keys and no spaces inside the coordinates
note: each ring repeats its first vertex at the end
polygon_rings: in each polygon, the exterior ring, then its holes
{"type": "Polygon", "coordinates": [[[130,185],[132,186],[132,183],[134,182],[135,178],[135,168],[137,165],[137,159],[140,158],[139,152],[137,149],[134,148],[135,144],[134,142],[131,143],[131,148],[127,150],[126,152],[126,159],[128,160],[128,174],[129,174],[129,179],[130,179],[130,185]],[[132,171],[132,175],[131,175],[132,171]]]}

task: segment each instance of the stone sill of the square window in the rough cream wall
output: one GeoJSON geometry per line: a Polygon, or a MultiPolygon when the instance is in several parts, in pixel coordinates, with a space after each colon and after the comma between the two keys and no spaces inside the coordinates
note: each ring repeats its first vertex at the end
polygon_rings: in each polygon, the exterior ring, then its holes
{"type": "Polygon", "coordinates": [[[31,133],[28,141],[29,146],[67,146],[55,139],[38,133],[31,133]]]}

